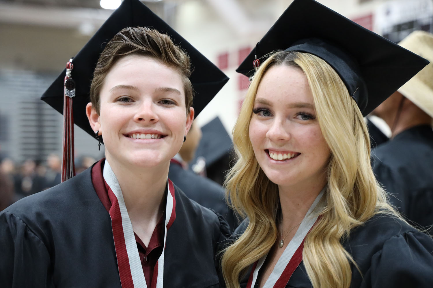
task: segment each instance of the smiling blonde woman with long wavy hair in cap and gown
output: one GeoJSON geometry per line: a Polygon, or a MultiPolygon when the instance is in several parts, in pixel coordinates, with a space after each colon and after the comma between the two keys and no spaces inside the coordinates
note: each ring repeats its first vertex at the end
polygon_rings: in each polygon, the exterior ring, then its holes
{"type": "Polygon", "coordinates": [[[227,287],[433,285],[433,240],[389,205],[363,119],[427,63],[294,0],[237,70],[252,81],[226,188],[247,218],[223,255],[227,287]]]}

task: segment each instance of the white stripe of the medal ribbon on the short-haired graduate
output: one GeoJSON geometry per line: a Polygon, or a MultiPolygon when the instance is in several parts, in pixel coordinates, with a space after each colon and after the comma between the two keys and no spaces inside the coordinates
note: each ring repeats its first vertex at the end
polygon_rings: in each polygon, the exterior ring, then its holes
{"type": "MultiPolygon", "coordinates": [[[[123,236],[125,238],[124,241],[125,241],[126,252],[127,252],[128,260],[129,260],[129,268],[130,268],[130,272],[131,272],[131,276],[132,276],[132,282],[133,282],[133,286],[127,282],[123,283],[122,282],[123,277],[122,277],[122,275],[120,275],[122,288],[126,288],[126,287],[127,288],[129,288],[129,287],[147,288],[146,280],[144,277],[144,273],[143,273],[143,269],[142,269],[142,265],[141,265],[141,261],[140,261],[140,256],[139,256],[139,252],[138,252],[138,248],[137,248],[137,244],[136,244],[136,238],[134,235],[134,231],[132,230],[132,223],[131,223],[131,220],[129,219],[128,211],[126,210],[122,190],[120,190],[120,185],[119,185],[119,182],[117,181],[117,177],[116,177],[116,175],[114,175],[114,172],[111,169],[110,164],[108,163],[107,160],[105,161],[105,165],[104,165],[104,169],[103,169],[103,178],[107,182],[108,186],[113,191],[113,194],[116,196],[116,198],[118,200],[119,208],[120,208],[120,215],[122,217],[123,236]]],[[[166,207],[165,207],[164,247],[162,250],[162,254],[161,254],[161,256],[159,256],[159,259],[158,259],[158,265],[157,265],[157,269],[158,269],[157,275],[158,276],[156,279],[156,287],[157,288],[162,288],[162,285],[163,285],[164,252],[165,252],[165,241],[167,238],[167,225],[168,225],[168,222],[170,221],[171,214],[173,212],[172,210],[173,210],[174,191],[171,191],[171,190],[173,190],[173,188],[172,188],[172,185],[169,185],[168,180],[167,180],[167,187],[168,187],[169,193],[167,195],[167,203],[166,203],[166,207]]],[[[116,235],[114,235],[114,233],[115,232],[113,231],[113,237],[114,237],[115,244],[116,244],[116,235]]],[[[117,245],[115,245],[115,246],[116,246],[116,256],[119,257],[119,253],[117,252],[117,245]]],[[[117,260],[117,262],[119,263],[119,259],[117,260]]],[[[121,267],[119,267],[119,274],[122,274],[121,267]]],[[[129,278],[129,277],[127,277],[127,278],[129,278]]]]}

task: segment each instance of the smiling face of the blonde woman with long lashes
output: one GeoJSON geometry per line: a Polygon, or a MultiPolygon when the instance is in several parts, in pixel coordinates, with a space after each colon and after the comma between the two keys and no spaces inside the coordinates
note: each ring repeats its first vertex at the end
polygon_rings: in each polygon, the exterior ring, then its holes
{"type": "Polygon", "coordinates": [[[265,73],[255,96],[249,138],[260,167],[280,187],[326,183],[330,149],[299,68],[278,65],[265,73]]]}

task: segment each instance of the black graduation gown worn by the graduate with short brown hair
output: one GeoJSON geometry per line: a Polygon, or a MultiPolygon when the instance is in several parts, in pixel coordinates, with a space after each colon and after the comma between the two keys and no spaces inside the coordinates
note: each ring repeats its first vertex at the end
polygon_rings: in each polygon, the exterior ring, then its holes
{"type": "MultiPolygon", "coordinates": [[[[111,218],[90,169],[0,213],[2,288],[121,287],[111,218]]],[[[215,255],[228,225],[174,187],[176,218],[167,231],[164,287],[223,287],[215,255]]]]}

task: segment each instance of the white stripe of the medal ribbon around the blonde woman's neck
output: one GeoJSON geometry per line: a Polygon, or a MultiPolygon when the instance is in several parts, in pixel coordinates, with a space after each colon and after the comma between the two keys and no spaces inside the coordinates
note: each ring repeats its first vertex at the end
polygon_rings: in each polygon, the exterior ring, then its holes
{"type": "MultiPolygon", "coordinates": [[[[325,188],[323,188],[323,190],[320,191],[319,195],[317,195],[313,204],[311,204],[310,209],[308,209],[307,214],[305,214],[306,216],[304,217],[304,220],[302,220],[302,223],[299,226],[299,228],[297,229],[293,239],[289,242],[287,247],[284,249],[284,252],[281,254],[280,259],[278,259],[277,264],[275,264],[275,267],[272,270],[271,275],[269,275],[268,280],[266,280],[265,285],[263,285],[263,288],[274,288],[275,287],[275,283],[278,281],[278,279],[283,274],[284,269],[288,265],[289,261],[292,259],[294,253],[296,252],[298,247],[301,245],[302,241],[304,241],[305,236],[307,236],[307,233],[313,227],[314,223],[316,223],[319,215],[317,215],[317,213],[313,214],[312,212],[316,208],[320,199],[322,199],[323,193],[325,192],[325,188]]],[[[257,276],[259,275],[259,270],[262,267],[263,263],[265,262],[267,256],[268,255],[266,254],[257,262],[257,266],[255,267],[253,275],[252,275],[253,278],[252,278],[251,287],[255,287],[255,283],[257,282],[257,276]]],[[[284,284],[283,287],[285,287],[286,284],[284,284]]]]}

